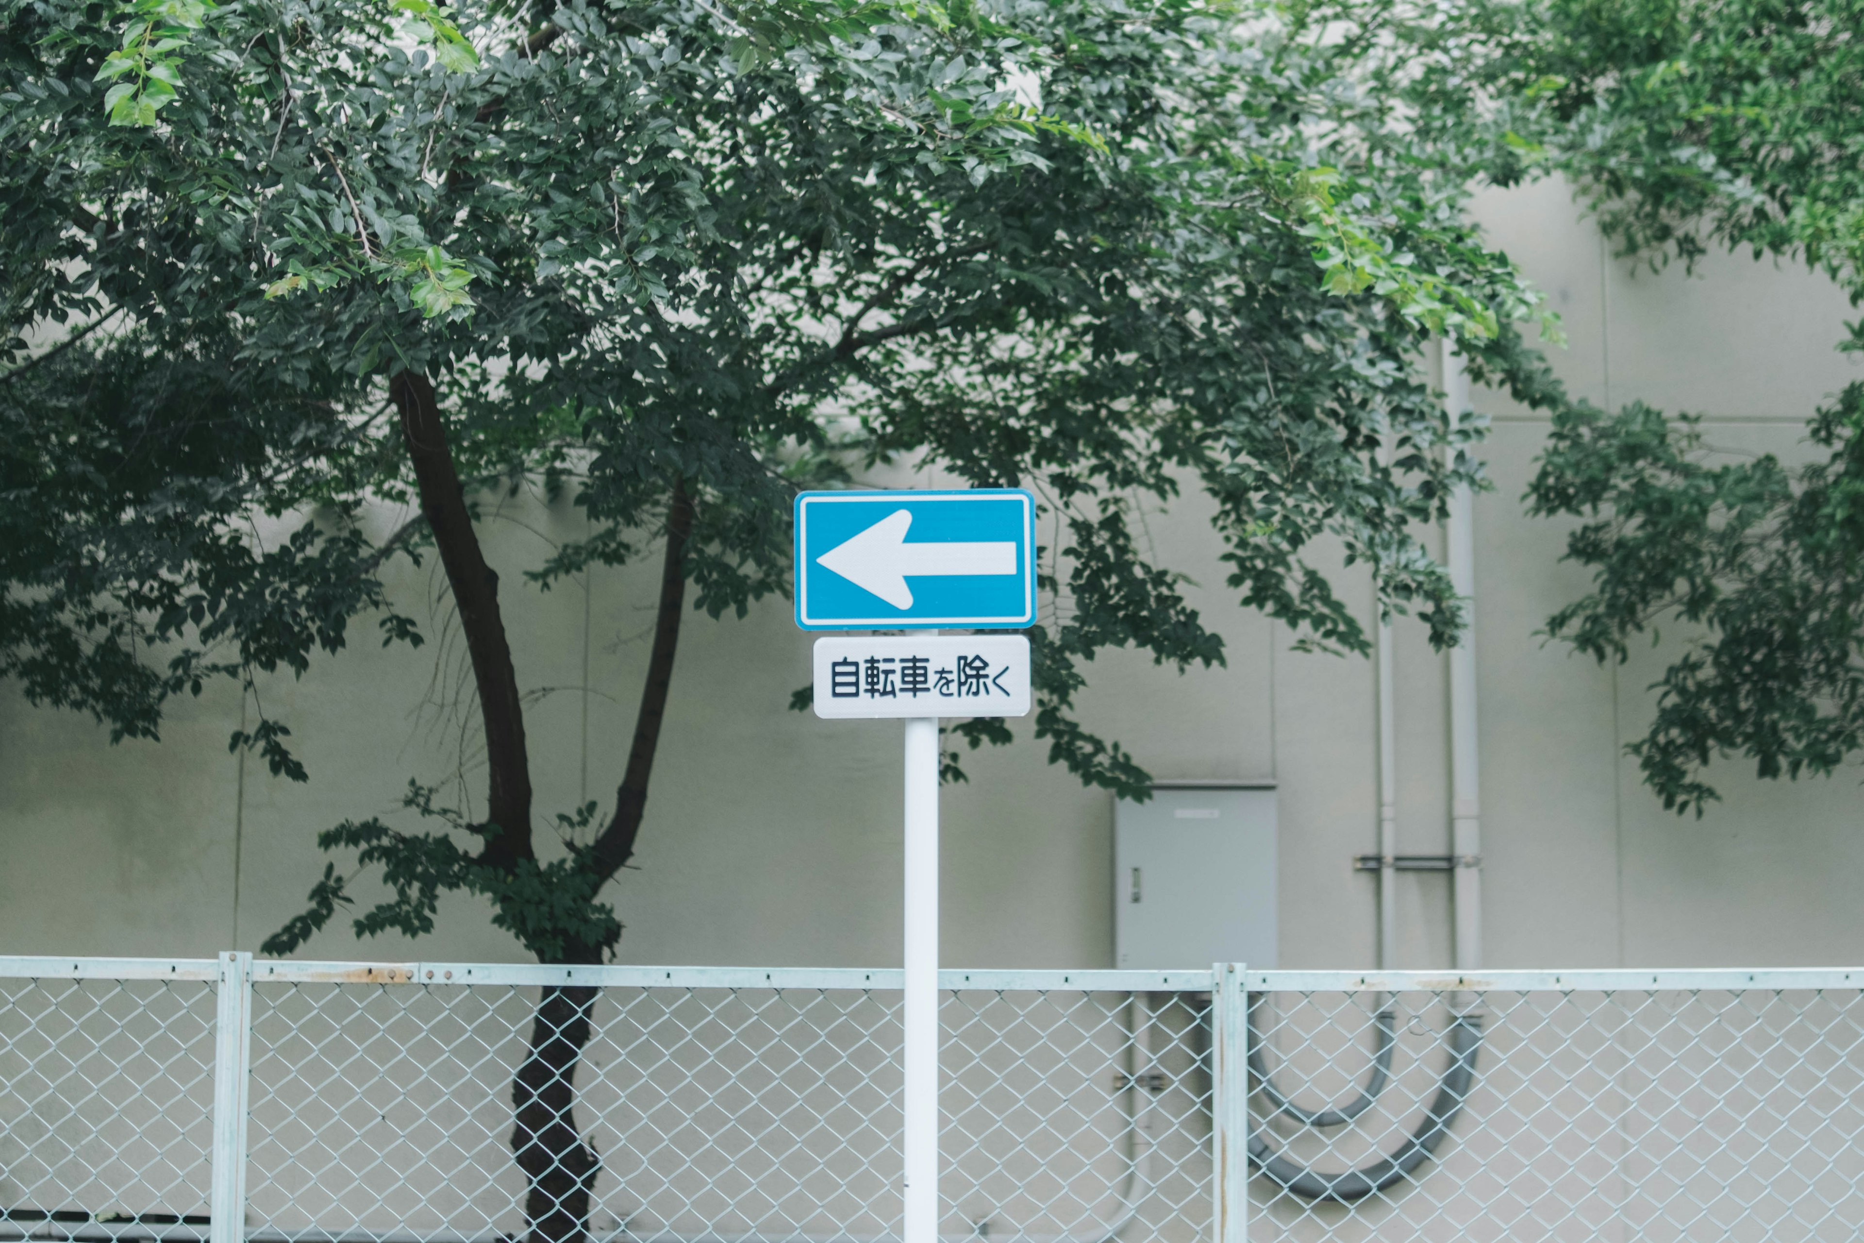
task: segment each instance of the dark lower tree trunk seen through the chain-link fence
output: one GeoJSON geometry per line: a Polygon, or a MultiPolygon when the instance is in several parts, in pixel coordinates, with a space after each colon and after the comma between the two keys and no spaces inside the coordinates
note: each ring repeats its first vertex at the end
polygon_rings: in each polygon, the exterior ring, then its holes
{"type": "Polygon", "coordinates": [[[531,1051],[511,1085],[511,1150],[529,1180],[529,1243],[587,1243],[589,1193],[600,1159],[576,1129],[576,1062],[589,1044],[596,990],[546,986],[531,1023],[531,1051]]]}

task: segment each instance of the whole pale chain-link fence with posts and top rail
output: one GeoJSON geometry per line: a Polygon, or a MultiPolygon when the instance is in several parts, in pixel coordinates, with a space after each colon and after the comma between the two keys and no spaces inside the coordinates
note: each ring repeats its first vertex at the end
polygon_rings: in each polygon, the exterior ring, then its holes
{"type": "MultiPolygon", "coordinates": [[[[1864,971],[941,984],[945,1239],[1864,1234],[1864,971]]],[[[0,958],[0,1237],[897,1239],[898,988],[0,958]]]]}

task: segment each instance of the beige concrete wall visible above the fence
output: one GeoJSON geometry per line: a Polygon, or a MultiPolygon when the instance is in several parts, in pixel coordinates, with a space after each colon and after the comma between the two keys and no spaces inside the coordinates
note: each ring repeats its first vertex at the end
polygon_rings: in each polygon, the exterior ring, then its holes
{"type": "MultiPolygon", "coordinates": [[[[1832,345],[1845,298],[1829,283],[1715,257],[1696,278],[1610,259],[1564,188],[1491,194],[1493,239],[1549,291],[1569,348],[1566,380],[1601,403],[1642,397],[1707,416],[1717,444],[1801,451],[1821,395],[1857,375],[1832,345]]],[[[1495,417],[1497,488],[1476,503],[1476,656],[1487,965],[1707,965],[1864,962],[1860,798],[1853,777],[1758,783],[1715,770],[1726,801],[1678,820],[1620,755],[1650,712],[1665,652],[1599,669],[1536,637],[1584,587],[1558,565],[1562,529],[1519,496],[1543,419],[1478,395],[1495,417]]],[[[926,485],[941,483],[923,477],[926,485]]],[[[1159,777],[1273,779],[1281,798],[1284,967],[1374,962],[1374,669],[1288,650],[1286,634],[1225,598],[1219,544],[1195,499],[1148,514],[1228,667],[1176,676],[1146,660],[1096,662],[1090,725],[1159,777]]],[[[496,567],[535,561],[576,531],[570,507],[509,503],[485,535],[496,567]]],[[[436,641],[382,650],[371,626],[265,706],[295,731],[309,785],[233,757],[240,703],[181,703],[157,744],[110,747],[101,729],[0,695],[0,952],[207,954],[255,949],[300,909],[322,870],[313,837],[397,809],[410,777],[445,783],[466,758],[462,652],[442,635],[427,570],[397,594],[432,615],[436,641]]],[[[652,568],[598,570],[539,594],[505,574],[518,676],[539,697],[529,732],[539,816],[608,803],[647,656],[652,568]]],[[[1370,591],[1340,576],[1370,615],[1370,591]]],[[[787,602],[747,621],[688,621],[639,842],[613,885],[624,962],[891,963],[898,934],[898,727],[787,712],[809,676],[809,639],[787,602]]],[[[1398,624],[1398,764],[1404,852],[1448,848],[1446,673],[1415,622],[1398,624]]],[[[1049,768],[1027,740],[969,758],[945,796],[943,958],[964,965],[1102,967],[1113,962],[1111,801],[1049,768]]],[[[1448,878],[1398,878],[1398,965],[1450,960],[1448,878]]],[[[356,943],[322,958],[514,960],[487,909],[449,900],[425,943],[356,943]]]]}

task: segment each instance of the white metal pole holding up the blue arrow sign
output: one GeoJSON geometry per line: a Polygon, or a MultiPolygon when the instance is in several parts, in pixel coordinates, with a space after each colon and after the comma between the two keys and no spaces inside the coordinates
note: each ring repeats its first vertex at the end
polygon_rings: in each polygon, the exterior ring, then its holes
{"type": "Polygon", "coordinates": [[[938,717],[906,721],[906,1243],[938,1243],[938,717]]]}

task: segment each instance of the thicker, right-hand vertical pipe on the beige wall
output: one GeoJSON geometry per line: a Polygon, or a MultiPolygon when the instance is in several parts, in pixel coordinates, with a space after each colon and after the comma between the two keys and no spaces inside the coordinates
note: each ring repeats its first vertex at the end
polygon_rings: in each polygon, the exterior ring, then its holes
{"type": "MultiPolygon", "coordinates": [[[[1469,371],[1448,341],[1443,347],[1443,393],[1452,419],[1469,412],[1469,371]]],[[[1458,453],[1450,445],[1448,453],[1458,453]]],[[[1476,757],[1476,533],[1469,486],[1450,492],[1446,531],[1450,585],[1469,609],[1461,639],[1450,649],[1450,854],[1456,904],[1456,969],[1482,967],[1482,799],[1476,757]]]]}

